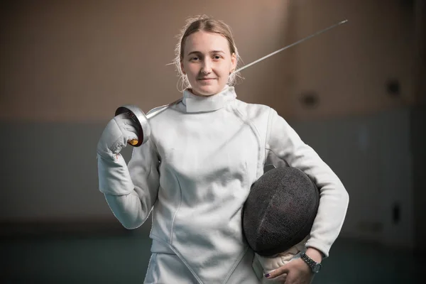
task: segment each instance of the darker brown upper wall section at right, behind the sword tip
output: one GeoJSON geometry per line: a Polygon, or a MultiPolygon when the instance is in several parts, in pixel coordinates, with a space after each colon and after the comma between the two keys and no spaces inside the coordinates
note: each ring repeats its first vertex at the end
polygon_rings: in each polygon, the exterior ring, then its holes
{"type": "Polygon", "coordinates": [[[306,3],[295,11],[300,36],[344,18],[349,22],[295,49],[289,99],[295,118],[368,114],[413,103],[413,13],[402,1],[306,3]],[[401,97],[386,93],[389,78],[400,80],[401,97]],[[306,90],[320,95],[317,109],[298,104],[306,90]]]}

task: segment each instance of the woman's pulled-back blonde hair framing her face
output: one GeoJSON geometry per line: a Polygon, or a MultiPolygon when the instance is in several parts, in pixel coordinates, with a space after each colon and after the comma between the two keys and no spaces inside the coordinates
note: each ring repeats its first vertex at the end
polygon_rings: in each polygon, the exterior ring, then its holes
{"type": "MultiPolygon", "coordinates": [[[[222,35],[224,38],[226,38],[226,40],[228,40],[229,51],[231,52],[231,55],[233,53],[235,54],[236,69],[238,69],[239,62],[241,61],[238,50],[236,49],[234,36],[232,35],[231,28],[226,23],[224,23],[223,21],[215,20],[214,18],[210,18],[206,15],[197,16],[195,18],[188,18],[185,26],[180,31],[180,34],[177,36],[179,38],[179,41],[175,48],[175,60],[173,60],[181,80],[181,90],[190,87],[190,82],[187,80],[186,75],[183,74],[182,68],[180,67],[180,62],[183,60],[184,57],[183,51],[185,49],[185,40],[189,35],[191,35],[192,33],[196,33],[197,31],[219,33],[219,35],[222,35]]],[[[237,77],[242,79],[242,77],[239,75],[239,72],[231,72],[231,75],[229,75],[228,78],[228,84],[236,84],[237,77]]]]}

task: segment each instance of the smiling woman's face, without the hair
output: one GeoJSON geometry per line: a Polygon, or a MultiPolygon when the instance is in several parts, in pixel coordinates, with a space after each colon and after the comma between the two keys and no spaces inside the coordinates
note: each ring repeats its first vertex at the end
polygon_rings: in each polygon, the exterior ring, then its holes
{"type": "Polygon", "coordinates": [[[192,92],[210,96],[222,91],[236,67],[236,56],[231,55],[228,40],[219,33],[197,31],[186,38],[183,52],[180,66],[192,92]]]}

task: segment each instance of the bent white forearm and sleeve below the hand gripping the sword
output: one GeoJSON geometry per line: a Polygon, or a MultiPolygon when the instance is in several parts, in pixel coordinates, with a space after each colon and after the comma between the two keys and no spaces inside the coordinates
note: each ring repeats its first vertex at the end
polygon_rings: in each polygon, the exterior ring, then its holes
{"type": "Polygon", "coordinates": [[[126,229],[136,229],[148,218],[157,199],[159,158],[151,140],[133,148],[129,165],[119,154],[107,159],[98,154],[99,190],[126,229]]]}

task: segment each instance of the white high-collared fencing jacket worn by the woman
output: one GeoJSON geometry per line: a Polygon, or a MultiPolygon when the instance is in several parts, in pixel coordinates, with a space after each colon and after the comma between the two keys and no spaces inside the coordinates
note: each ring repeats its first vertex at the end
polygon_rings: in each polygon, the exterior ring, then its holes
{"type": "MultiPolygon", "coordinates": [[[[241,207],[264,165],[273,163],[303,170],[320,188],[305,246],[328,256],[348,194],[274,109],[241,102],[234,87],[211,97],[187,89],[181,102],[153,116],[150,125],[150,140],[134,148],[129,165],[121,155],[98,155],[98,168],[99,189],[126,228],[141,226],[153,209],[153,253],[175,254],[199,283],[229,283],[237,266],[240,274],[248,271],[239,265],[248,250],[241,207]]],[[[182,273],[182,283],[187,276],[182,273]]]]}

